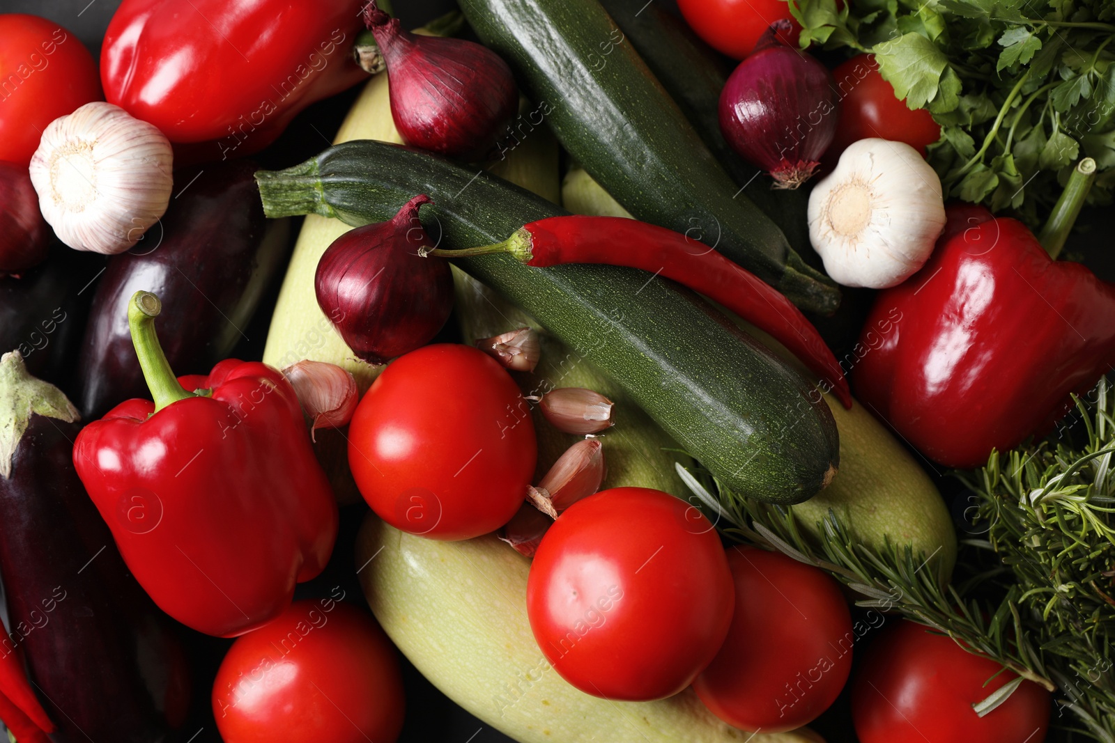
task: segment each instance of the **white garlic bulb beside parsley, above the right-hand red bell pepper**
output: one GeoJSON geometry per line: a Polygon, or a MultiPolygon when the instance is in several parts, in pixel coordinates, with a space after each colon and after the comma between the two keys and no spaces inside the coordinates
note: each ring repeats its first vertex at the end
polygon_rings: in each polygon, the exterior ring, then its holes
{"type": "Polygon", "coordinates": [[[809,242],[844,286],[901,284],[925,264],[942,229],[941,179],[905,143],[853,143],[809,194],[809,242]]]}

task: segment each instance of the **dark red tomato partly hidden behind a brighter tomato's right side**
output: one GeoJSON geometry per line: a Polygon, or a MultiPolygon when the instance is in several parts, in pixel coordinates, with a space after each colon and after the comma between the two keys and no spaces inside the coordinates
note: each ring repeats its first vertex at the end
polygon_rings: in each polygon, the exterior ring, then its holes
{"type": "Polygon", "coordinates": [[[724,647],[694,682],[717,717],[780,733],[816,718],[852,669],[852,615],[836,581],[779,553],[733,547],[736,610],[724,647]]]}

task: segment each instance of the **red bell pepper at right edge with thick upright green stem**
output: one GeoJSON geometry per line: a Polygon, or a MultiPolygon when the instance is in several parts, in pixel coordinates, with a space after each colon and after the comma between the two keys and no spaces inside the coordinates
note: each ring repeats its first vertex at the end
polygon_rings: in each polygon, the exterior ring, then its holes
{"type": "Polygon", "coordinates": [[[1073,174],[1043,242],[1016,219],[950,205],[924,267],[879,293],[855,391],[927,457],[985,465],[992,449],[1045,430],[1115,361],[1115,284],[1055,260],[1094,177],[1089,163],[1073,174]]]}

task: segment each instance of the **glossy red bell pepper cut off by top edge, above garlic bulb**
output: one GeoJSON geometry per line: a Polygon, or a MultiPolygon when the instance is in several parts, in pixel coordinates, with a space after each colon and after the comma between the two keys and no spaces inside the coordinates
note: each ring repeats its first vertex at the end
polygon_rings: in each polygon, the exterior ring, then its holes
{"type": "Polygon", "coordinates": [[[124,0],[100,49],[105,98],[162,129],[176,166],[250,155],[367,77],[351,55],[361,4],[124,0]]]}

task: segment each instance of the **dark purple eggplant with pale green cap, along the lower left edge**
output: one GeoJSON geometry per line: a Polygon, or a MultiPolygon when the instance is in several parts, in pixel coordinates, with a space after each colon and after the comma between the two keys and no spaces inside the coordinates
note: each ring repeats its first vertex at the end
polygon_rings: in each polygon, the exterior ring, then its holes
{"type": "MultiPolygon", "coordinates": [[[[0,358],[0,576],[9,634],[56,741],[155,743],[188,702],[173,624],[128,574],[77,477],[77,411],[0,358]]],[[[122,508],[126,508],[123,504],[122,508]]]]}

